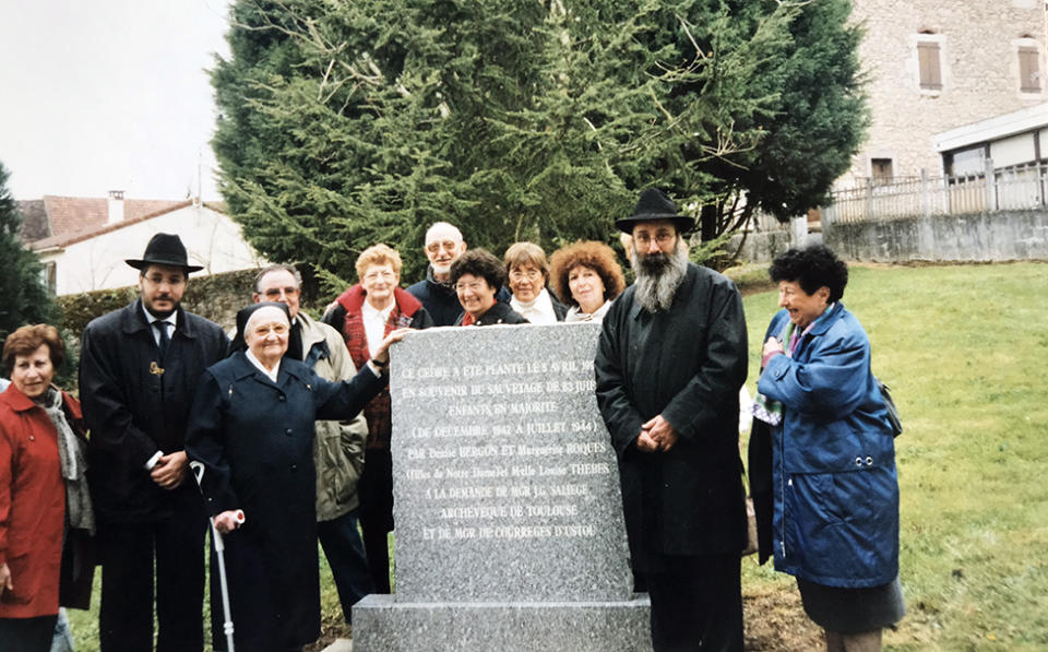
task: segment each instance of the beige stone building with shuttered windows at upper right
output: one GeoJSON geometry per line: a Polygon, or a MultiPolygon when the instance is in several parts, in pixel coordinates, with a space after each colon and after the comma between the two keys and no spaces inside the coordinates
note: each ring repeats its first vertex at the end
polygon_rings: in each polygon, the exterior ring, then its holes
{"type": "Polygon", "coordinates": [[[838,188],[943,173],[932,137],[1040,104],[1043,0],[854,0],[869,138],[838,188]]]}

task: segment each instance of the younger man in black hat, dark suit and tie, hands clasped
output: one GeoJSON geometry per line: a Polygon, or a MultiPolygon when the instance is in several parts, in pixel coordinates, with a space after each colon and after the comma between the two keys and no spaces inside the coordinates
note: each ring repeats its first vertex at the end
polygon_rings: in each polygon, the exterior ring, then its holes
{"type": "Polygon", "coordinates": [[[157,234],[139,298],[84,329],[80,395],[91,428],[90,483],[102,558],[103,652],[203,649],[203,499],[189,477],[189,410],[204,369],[226,356],[218,324],[180,306],[189,273],[177,235],[157,234]]]}

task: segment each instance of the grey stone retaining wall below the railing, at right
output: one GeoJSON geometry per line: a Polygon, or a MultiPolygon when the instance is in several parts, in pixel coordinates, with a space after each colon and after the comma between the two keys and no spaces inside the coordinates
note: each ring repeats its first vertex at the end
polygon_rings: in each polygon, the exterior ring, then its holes
{"type": "Polygon", "coordinates": [[[1048,212],[999,211],[847,224],[823,221],[823,238],[846,260],[1048,260],[1048,212]]]}

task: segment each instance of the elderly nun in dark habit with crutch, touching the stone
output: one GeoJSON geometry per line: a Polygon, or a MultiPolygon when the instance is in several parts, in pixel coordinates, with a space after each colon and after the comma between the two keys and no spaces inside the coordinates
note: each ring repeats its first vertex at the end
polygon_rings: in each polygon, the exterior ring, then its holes
{"type": "MultiPolygon", "coordinates": [[[[284,357],[289,330],[284,304],[240,310],[234,353],[201,378],[186,437],[207,511],[225,535],[240,650],[298,650],[320,636],[314,422],[356,416],[385,386],[390,344],[404,335],[385,337],[353,380],[329,382],[284,357]]],[[[221,623],[217,600],[212,614],[221,623]]],[[[213,631],[224,649],[222,627],[213,631]]]]}

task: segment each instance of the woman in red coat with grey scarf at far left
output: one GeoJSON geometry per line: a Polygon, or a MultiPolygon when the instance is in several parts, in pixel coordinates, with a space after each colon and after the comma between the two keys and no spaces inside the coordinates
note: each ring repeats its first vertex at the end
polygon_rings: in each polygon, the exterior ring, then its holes
{"type": "Polygon", "coordinates": [[[80,403],[51,386],[66,347],[47,324],[3,344],[11,386],[0,394],[0,641],[46,652],[59,603],[87,608],[94,568],[84,536],[94,514],[84,479],[80,403]],[[60,579],[61,578],[61,579],[60,579]]]}

